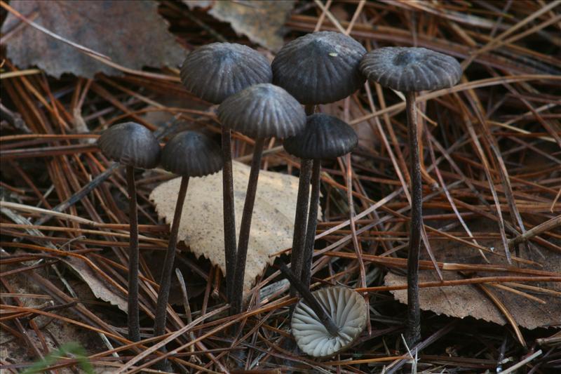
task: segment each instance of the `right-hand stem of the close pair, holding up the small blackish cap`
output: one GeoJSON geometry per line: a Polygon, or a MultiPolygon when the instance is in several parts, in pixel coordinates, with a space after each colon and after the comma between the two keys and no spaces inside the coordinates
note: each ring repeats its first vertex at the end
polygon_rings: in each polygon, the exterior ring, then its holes
{"type": "Polygon", "coordinates": [[[300,279],[304,286],[310,286],[311,259],[313,256],[313,244],[316,243],[316,228],[318,227],[318,205],[320,203],[320,171],[321,160],[313,160],[311,172],[311,197],[310,211],[308,213],[308,227],[306,229],[306,245],[304,246],[304,267],[300,279]]]}

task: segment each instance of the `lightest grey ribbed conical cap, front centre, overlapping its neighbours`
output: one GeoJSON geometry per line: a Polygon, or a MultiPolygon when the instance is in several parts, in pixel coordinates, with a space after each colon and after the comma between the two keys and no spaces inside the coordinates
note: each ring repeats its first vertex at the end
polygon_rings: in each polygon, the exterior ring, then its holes
{"type": "Polygon", "coordinates": [[[256,84],[232,95],[218,107],[222,126],[250,138],[288,138],[306,125],[302,105],[283,88],[256,84]]]}

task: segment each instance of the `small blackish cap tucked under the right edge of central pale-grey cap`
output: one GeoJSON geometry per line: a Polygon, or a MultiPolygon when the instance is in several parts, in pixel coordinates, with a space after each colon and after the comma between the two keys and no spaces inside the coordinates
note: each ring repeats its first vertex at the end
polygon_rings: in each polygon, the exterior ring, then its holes
{"type": "Polygon", "coordinates": [[[285,139],[286,152],[301,159],[335,159],[353,150],[358,137],[351,126],[335,116],[308,116],[301,133],[285,139]]]}

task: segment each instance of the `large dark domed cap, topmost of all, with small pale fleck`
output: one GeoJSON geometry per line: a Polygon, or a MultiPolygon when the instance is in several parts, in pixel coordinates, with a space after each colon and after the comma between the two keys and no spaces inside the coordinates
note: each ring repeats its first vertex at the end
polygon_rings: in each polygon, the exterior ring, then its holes
{"type": "Polygon", "coordinates": [[[339,32],[314,32],[290,41],[271,65],[273,83],[302,104],[342,100],[360,88],[360,59],[365,48],[339,32]]]}

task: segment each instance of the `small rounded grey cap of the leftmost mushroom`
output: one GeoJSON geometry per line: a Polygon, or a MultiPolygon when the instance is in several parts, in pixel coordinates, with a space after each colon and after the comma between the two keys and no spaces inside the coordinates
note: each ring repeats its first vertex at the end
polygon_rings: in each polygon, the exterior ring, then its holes
{"type": "Polygon", "coordinates": [[[160,159],[160,144],[154,134],[135,122],[107,128],[97,139],[97,146],[108,159],[135,168],[155,168],[160,159]]]}

